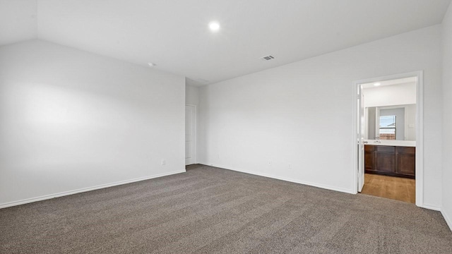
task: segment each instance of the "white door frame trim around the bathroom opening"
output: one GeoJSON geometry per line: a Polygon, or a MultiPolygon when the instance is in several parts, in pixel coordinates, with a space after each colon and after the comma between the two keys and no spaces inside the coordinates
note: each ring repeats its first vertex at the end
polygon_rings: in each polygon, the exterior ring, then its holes
{"type": "MultiPolygon", "coordinates": [[[[364,80],[356,80],[353,82],[353,180],[355,185],[355,193],[358,193],[358,149],[357,145],[357,92],[359,85],[365,83],[375,83],[385,80],[394,80],[399,78],[416,77],[416,205],[423,207],[424,205],[424,71],[413,71],[410,73],[400,73],[395,75],[386,75],[376,78],[367,78],[364,80]]],[[[363,145],[363,144],[360,144],[363,145]]]]}

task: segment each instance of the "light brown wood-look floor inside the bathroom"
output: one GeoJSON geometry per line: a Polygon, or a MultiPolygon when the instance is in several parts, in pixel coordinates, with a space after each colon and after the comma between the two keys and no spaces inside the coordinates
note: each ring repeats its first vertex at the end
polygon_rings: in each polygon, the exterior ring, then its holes
{"type": "Polygon", "coordinates": [[[416,202],[416,180],[365,174],[364,188],[361,193],[414,204],[416,202]]]}

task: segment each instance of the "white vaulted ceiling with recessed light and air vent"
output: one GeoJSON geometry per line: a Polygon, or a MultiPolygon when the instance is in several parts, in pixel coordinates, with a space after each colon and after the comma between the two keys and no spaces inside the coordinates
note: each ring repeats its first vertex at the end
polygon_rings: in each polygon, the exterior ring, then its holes
{"type": "Polygon", "coordinates": [[[205,85],[439,24],[450,2],[0,0],[0,44],[38,37],[205,85]]]}

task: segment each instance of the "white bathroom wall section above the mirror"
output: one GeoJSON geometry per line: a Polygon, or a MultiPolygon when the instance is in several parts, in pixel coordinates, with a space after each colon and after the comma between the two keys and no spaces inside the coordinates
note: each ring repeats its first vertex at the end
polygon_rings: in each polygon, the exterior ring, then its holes
{"type": "Polygon", "coordinates": [[[416,83],[384,85],[362,90],[364,107],[416,104],[416,83]]]}

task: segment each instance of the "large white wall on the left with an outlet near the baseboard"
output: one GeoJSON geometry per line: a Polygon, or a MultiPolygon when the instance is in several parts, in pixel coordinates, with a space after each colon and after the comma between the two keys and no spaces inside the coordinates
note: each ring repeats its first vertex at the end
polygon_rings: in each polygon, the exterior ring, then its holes
{"type": "Polygon", "coordinates": [[[0,206],[185,171],[184,96],[182,76],[40,40],[0,47],[0,206]]]}

